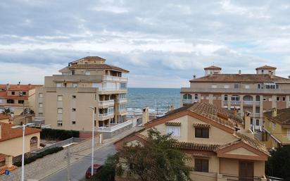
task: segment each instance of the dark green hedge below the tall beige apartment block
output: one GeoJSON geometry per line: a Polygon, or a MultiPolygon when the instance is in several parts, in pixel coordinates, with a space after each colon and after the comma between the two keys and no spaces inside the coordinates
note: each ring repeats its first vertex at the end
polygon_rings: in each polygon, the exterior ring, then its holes
{"type": "Polygon", "coordinates": [[[41,139],[65,140],[71,137],[80,137],[80,132],[75,130],[53,130],[50,128],[44,128],[40,132],[41,139]]]}

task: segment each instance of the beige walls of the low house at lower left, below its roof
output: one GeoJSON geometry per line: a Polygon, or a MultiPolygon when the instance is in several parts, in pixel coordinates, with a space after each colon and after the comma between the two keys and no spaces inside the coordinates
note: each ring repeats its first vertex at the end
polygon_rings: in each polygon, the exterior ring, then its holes
{"type": "MultiPolygon", "coordinates": [[[[18,128],[22,129],[22,128],[18,128]]],[[[30,150],[30,139],[32,137],[37,137],[37,148],[39,148],[40,143],[40,133],[34,133],[31,135],[25,135],[25,153],[30,150]]],[[[8,156],[18,156],[22,154],[23,138],[17,137],[14,139],[8,139],[6,141],[0,142],[0,154],[6,154],[8,156]]]]}

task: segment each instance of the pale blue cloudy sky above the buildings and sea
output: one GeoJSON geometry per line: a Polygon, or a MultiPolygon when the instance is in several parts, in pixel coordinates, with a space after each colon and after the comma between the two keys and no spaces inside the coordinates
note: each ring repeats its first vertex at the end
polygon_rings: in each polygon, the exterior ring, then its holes
{"type": "Polygon", "coordinates": [[[0,84],[44,84],[84,56],[130,70],[128,87],[189,87],[209,65],[287,77],[290,1],[0,1],[0,84]]]}

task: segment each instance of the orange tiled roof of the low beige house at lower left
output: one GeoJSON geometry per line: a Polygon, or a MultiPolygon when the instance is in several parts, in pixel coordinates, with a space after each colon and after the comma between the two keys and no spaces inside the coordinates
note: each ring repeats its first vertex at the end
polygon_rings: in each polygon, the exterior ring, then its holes
{"type": "MultiPolygon", "coordinates": [[[[13,139],[16,137],[22,137],[23,136],[23,130],[22,128],[15,128],[12,127],[14,125],[8,124],[8,123],[0,123],[1,125],[1,138],[0,142],[6,141],[8,139],[13,139]]],[[[33,127],[25,127],[25,135],[31,135],[37,132],[40,132],[41,130],[33,127]]]]}

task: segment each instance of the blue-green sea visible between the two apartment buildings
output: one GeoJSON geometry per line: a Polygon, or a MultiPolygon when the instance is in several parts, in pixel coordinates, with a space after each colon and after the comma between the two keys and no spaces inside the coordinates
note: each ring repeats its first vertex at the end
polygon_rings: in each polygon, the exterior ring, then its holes
{"type": "Polygon", "coordinates": [[[128,88],[127,111],[141,113],[149,106],[149,113],[168,112],[170,105],[180,107],[180,89],[177,88],[128,88]]]}

